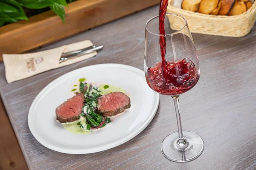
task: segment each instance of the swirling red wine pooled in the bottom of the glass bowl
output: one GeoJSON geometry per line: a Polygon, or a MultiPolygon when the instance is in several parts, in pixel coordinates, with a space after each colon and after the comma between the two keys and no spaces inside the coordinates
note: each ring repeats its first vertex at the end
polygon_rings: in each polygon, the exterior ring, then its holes
{"type": "Polygon", "coordinates": [[[158,62],[148,68],[146,79],[149,87],[157,93],[178,95],[194,87],[198,82],[199,74],[195,64],[190,59],[184,58],[177,62],[166,62],[165,74],[161,62],[158,62]]]}

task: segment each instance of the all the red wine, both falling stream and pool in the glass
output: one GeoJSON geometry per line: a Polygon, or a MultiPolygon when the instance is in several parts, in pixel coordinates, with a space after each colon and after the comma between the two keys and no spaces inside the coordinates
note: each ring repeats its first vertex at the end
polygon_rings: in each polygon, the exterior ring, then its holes
{"type": "MultiPolygon", "coordinates": [[[[189,91],[198,82],[199,73],[195,64],[188,58],[180,61],[167,62],[166,55],[166,38],[164,29],[164,19],[168,0],[160,1],[159,10],[159,34],[160,34],[160,51],[162,61],[148,68],[146,79],[149,87],[160,94],[178,95],[189,91]]],[[[174,55],[175,51],[174,51],[174,55]]],[[[174,56],[176,58],[176,56],[174,56]]]]}

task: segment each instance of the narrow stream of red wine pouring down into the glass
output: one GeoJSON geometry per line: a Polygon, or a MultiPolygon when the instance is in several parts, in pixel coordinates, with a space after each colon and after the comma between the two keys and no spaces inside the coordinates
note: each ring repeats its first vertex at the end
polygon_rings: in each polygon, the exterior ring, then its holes
{"type": "MultiPolygon", "coordinates": [[[[160,9],[159,9],[159,34],[165,35],[165,29],[164,29],[164,18],[166,16],[166,10],[168,6],[168,0],[161,0],[160,1],[160,9]]],[[[160,36],[159,40],[160,45],[160,51],[161,51],[161,57],[162,57],[162,72],[163,72],[163,81],[167,81],[167,75],[166,75],[166,37],[160,36]]]]}

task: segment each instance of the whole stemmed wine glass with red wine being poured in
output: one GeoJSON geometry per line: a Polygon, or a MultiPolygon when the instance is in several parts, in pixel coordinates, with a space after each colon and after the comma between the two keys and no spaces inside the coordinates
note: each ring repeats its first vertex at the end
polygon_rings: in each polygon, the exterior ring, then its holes
{"type": "Polygon", "coordinates": [[[159,34],[159,16],[146,23],[144,71],[148,86],[159,94],[172,96],[175,105],[178,132],[163,139],[162,153],[171,161],[187,162],[201,155],[204,142],[194,132],[182,130],[179,96],[195,86],[200,68],[186,19],[178,14],[166,14],[164,28],[165,34],[159,34]]]}

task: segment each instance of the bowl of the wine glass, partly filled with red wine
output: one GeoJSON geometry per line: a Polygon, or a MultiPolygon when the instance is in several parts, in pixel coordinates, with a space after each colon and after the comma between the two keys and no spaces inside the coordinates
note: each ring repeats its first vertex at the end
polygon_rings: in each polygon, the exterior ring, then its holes
{"type": "Polygon", "coordinates": [[[178,95],[188,91],[198,82],[200,77],[198,57],[186,19],[178,14],[166,14],[164,22],[166,33],[164,35],[159,34],[157,29],[158,16],[146,23],[145,75],[149,87],[157,93],[178,95]],[[161,37],[166,39],[165,73],[162,71],[159,48],[161,37]],[[166,79],[163,74],[166,74],[166,79]]]}

